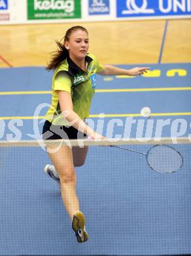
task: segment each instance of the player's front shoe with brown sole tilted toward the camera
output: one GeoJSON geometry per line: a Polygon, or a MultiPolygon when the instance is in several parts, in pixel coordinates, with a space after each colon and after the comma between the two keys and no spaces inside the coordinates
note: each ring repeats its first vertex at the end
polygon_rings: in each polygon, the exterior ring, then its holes
{"type": "Polygon", "coordinates": [[[86,232],[85,224],[86,218],[84,216],[84,213],[78,211],[73,215],[72,228],[79,243],[86,242],[89,237],[88,233],[86,232]]]}

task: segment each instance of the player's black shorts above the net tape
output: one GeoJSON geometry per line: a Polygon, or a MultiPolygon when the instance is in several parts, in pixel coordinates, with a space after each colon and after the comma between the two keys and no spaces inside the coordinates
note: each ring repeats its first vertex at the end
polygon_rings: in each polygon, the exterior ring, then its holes
{"type": "Polygon", "coordinates": [[[81,133],[73,126],[52,125],[50,121],[46,120],[43,126],[43,140],[60,139],[87,139],[87,135],[81,133]]]}

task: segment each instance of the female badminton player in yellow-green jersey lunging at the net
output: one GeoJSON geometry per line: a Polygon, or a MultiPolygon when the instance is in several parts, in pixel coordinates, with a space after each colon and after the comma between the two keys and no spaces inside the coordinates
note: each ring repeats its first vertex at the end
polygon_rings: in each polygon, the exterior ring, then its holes
{"type": "MultiPolygon", "coordinates": [[[[141,75],[149,68],[124,70],[100,64],[88,53],[88,31],[82,26],[73,26],[65,33],[63,43],[56,41],[58,51],[52,56],[47,70],[54,70],[52,77],[52,106],[46,113],[43,139],[78,139],[91,137],[102,139],[85,122],[89,116],[92,97],[95,93],[96,74],[141,75]]],[[[54,149],[56,146],[48,146],[54,149]]],[[[71,218],[72,228],[78,242],[86,242],[85,217],[80,211],[76,193],[75,166],[83,165],[88,148],[61,146],[48,152],[53,165],[46,165],[46,175],[60,184],[61,198],[71,218]]]]}

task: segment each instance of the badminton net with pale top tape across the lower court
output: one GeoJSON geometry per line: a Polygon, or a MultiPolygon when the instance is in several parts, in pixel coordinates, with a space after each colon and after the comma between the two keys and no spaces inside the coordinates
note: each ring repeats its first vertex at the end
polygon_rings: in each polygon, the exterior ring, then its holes
{"type": "MultiPolygon", "coordinates": [[[[50,159],[42,145],[0,142],[0,255],[189,255],[190,140],[160,142],[181,152],[184,165],[177,173],[156,173],[144,155],[107,146],[147,152],[159,141],[84,141],[88,155],[75,168],[90,235],[82,246],[73,235],[58,182],[43,173],[50,159]]],[[[73,147],[77,143],[71,142],[73,147]]]]}

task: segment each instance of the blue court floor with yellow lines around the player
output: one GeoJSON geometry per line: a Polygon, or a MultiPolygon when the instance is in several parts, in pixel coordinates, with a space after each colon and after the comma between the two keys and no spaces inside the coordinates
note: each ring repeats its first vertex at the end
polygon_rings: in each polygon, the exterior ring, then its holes
{"type": "MultiPolygon", "coordinates": [[[[189,137],[191,64],[147,66],[151,71],[142,77],[97,75],[90,125],[113,138],[189,137]],[[152,110],[150,119],[140,115],[144,106],[152,110]]],[[[1,140],[39,139],[52,73],[44,67],[1,68],[0,77],[1,140]]],[[[90,233],[85,244],[75,241],[60,188],[43,173],[46,153],[0,148],[0,255],[190,255],[191,146],[176,146],[184,166],[172,175],[154,173],[131,152],[90,148],[77,168],[90,233]]],[[[149,145],[130,147],[147,152],[149,145]]]]}

